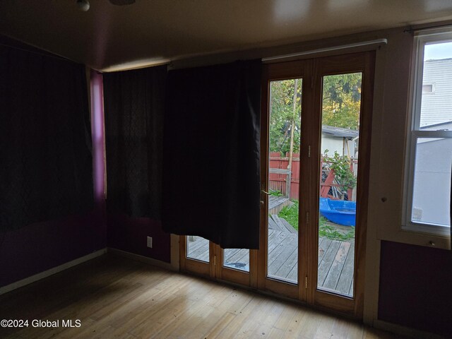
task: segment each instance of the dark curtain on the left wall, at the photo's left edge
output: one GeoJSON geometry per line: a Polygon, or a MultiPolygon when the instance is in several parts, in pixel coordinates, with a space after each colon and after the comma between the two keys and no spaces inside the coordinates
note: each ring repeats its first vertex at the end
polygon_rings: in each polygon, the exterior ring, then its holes
{"type": "Polygon", "coordinates": [[[0,46],[0,231],[93,207],[85,67],[0,46]]]}

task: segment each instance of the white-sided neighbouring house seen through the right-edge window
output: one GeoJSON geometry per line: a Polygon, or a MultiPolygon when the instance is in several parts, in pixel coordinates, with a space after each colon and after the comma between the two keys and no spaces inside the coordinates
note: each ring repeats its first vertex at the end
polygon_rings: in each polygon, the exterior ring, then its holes
{"type": "MultiPolygon", "coordinates": [[[[452,130],[452,59],[424,62],[420,129],[452,130]]],[[[449,225],[452,139],[417,142],[412,220],[449,225]]]]}

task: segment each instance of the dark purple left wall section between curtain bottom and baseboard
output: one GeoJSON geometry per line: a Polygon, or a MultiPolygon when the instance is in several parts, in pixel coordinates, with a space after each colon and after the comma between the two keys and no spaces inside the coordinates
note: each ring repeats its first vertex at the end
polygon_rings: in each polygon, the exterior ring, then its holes
{"type": "Polygon", "coordinates": [[[104,249],[102,213],[38,222],[0,234],[0,287],[104,249]]]}

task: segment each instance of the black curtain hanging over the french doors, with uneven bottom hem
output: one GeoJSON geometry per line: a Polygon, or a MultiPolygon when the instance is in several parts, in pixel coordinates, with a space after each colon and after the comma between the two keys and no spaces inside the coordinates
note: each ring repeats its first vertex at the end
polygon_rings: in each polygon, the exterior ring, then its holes
{"type": "Polygon", "coordinates": [[[258,248],[261,61],[170,71],[163,228],[258,248]]]}

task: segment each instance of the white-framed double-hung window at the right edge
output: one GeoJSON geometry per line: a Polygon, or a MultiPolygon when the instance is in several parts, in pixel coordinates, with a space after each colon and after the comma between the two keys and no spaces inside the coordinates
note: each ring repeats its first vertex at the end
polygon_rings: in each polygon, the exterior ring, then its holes
{"type": "Polygon", "coordinates": [[[417,42],[404,230],[450,234],[452,32],[417,42]],[[434,95],[432,95],[434,94],[434,95]]]}

